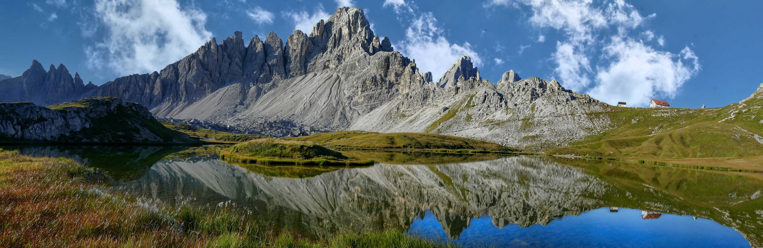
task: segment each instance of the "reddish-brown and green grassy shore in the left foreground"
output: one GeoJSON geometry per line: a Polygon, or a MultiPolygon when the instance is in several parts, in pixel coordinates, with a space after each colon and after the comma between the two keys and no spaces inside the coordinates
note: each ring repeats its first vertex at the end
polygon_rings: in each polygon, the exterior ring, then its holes
{"type": "Polygon", "coordinates": [[[400,230],[306,240],[231,208],[150,206],[92,191],[98,171],[72,159],[0,150],[0,246],[438,247],[400,230]]]}

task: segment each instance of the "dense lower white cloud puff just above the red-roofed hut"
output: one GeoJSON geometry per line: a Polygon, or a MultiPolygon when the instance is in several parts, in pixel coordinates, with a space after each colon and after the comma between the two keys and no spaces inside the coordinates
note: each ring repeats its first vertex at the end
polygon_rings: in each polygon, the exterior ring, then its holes
{"type": "Polygon", "coordinates": [[[627,101],[645,106],[654,97],[673,98],[681,85],[700,71],[699,58],[689,47],[673,54],[636,40],[613,37],[604,52],[613,60],[599,69],[597,85],[590,94],[610,103],[627,101]]]}

